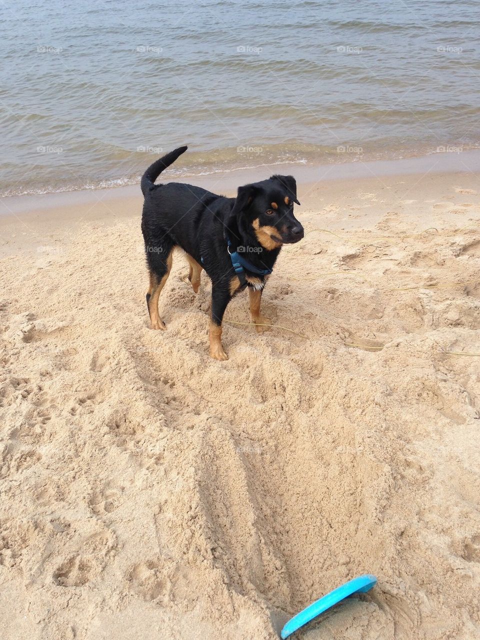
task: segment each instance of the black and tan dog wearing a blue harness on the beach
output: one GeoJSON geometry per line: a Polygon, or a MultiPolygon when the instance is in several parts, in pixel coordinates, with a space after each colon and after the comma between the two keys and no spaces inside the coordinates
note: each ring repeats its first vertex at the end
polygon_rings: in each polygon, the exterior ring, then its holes
{"type": "Polygon", "coordinates": [[[257,330],[268,319],[260,315],[265,280],[284,243],[304,237],[293,215],[297,183],[291,175],[238,188],[236,198],[226,198],[189,184],[153,184],[160,173],[187,147],[179,147],[151,164],[141,181],[145,198],[142,232],[150,270],[146,294],[152,329],[164,329],[159,317],[159,296],[170,273],[172,253],[180,247],[190,264],[194,292],[205,269],[212,280],[210,355],[227,360],[221,342],[222,317],[231,298],[249,289],[252,322],[257,330]]]}

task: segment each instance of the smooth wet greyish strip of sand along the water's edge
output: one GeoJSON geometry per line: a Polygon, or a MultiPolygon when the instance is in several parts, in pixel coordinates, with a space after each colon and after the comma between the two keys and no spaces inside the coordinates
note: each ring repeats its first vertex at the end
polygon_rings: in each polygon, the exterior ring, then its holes
{"type": "MultiPolygon", "coordinates": [[[[371,177],[387,177],[414,175],[421,173],[480,173],[480,150],[469,150],[460,153],[445,152],[428,156],[408,157],[391,160],[353,161],[350,163],[331,164],[267,164],[249,169],[232,169],[226,172],[206,175],[171,176],[164,173],[161,182],[183,182],[196,184],[214,193],[234,195],[236,187],[247,182],[263,180],[272,173],[292,174],[297,184],[312,184],[330,180],[368,179],[371,177]]],[[[142,198],[140,184],[127,186],[111,186],[98,189],[78,189],[58,191],[54,193],[35,193],[0,197],[0,221],[4,216],[40,212],[45,209],[72,205],[88,205],[109,200],[124,198],[142,198]]]]}

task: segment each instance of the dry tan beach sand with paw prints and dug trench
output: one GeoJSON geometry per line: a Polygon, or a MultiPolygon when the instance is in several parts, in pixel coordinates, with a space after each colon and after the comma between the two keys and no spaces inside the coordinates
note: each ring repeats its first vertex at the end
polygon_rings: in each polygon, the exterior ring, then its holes
{"type": "Polygon", "coordinates": [[[300,184],[228,362],[180,254],[148,328],[139,193],[4,216],[1,638],[274,640],[367,572],[296,637],[480,637],[479,184],[300,184]]]}

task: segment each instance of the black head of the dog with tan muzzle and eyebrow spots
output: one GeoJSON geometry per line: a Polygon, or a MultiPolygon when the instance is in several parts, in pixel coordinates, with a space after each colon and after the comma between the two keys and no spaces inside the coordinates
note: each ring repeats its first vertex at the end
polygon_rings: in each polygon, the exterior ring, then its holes
{"type": "Polygon", "coordinates": [[[304,228],[293,215],[297,200],[297,182],[291,175],[272,175],[268,180],[238,188],[231,214],[239,228],[251,225],[260,244],[267,249],[284,243],[296,243],[304,237],[304,228]]]}

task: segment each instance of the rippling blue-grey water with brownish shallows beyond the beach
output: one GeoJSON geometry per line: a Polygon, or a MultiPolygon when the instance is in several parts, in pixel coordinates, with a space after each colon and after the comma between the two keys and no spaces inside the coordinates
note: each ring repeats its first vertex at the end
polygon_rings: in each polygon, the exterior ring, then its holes
{"type": "Polygon", "coordinates": [[[477,0],[2,3],[0,193],[479,146],[477,0]]]}

